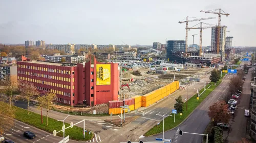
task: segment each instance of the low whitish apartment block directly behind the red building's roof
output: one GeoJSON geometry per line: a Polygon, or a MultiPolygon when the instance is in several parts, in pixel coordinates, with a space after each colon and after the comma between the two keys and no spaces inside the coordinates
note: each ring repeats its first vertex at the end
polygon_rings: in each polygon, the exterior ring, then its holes
{"type": "Polygon", "coordinates": [[[65,59],[65,63],[82,63],[85,61],[84,56],[76,55],[54,55],[54,56],[44,56],[46,61],[50,62],[61,62],[61,59],[65,59]]]}

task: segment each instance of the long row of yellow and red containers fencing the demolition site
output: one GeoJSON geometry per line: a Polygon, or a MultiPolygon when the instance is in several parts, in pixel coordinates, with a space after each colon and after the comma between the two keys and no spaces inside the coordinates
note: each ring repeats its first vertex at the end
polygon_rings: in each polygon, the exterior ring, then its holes
{"type": "MultiPolygon", "coordinates": [[[[138,109],[139,107],[148,107],[148,106],[154,104],[155,102],[169,96],[169,94],[172,94],[173,92],[178,90],[179,86],[180,86],[179,81],[174,81],[164,87],[161,87],[155,91],[147,93],[144,96],[135,96],[133,98],[125,99],[123,101],[115,101],[115,102],[119,102],[119,103],[123,102],[123,104],[128,105],[130,110],[132,111],[134,109],[138,109]]],[[[123,105],[120,105],[120,106],[123,106],[123,105]]],[[[110,110],[113,109],[111,107],[113,107],[113,106],[110,106],[110,110]]],[[[116,114],[120,114],[120,113],[121,113],[121,109],[116,114]]]]}

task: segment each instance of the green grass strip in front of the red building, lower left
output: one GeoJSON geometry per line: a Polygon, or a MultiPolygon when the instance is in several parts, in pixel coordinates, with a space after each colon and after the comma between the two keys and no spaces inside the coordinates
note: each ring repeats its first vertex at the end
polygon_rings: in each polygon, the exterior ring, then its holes
{"type": "MultiPolygon", "coordinates": [[[[6,105],[9,106],[9,105],[6,105]]],[[[53,118],[48,117],[48,127],[46,126],[46,116],[43,116],[44,124],[41,124],[41,115],[36,114],[34,112],[29,112],[29,115],[27,114],[27,110],[12,106],[12,108],[15,111],[15,119],[26,123],[28,125],[31,125],[33,127],[36,127],[38,129],[47,131],[49,133],[53,133],[53,130],[56,130],[57,132],[61,130],[63,126],[63,122],[57,122],[57,120],[54,120],[53,118]]],[[[75,124],[75,123],[74,123],[75,124]]],[[[83,123],[80,123],[83,124],[83,123]]],[[[66,124],[66,127],[69,127],[70,124],[66,124]]],[[[80,127],[74,126],[73,128],[68,128],[65,130],[65,134],[70,136],[70,139],[73,140],[79,140],[79,141],[86,141],[93,138],[93,133],[89,136],[89,134],[86,134],[86,138],[83,138],[83,129],[80,127]]],[[[57,133],[57,136],[63,137],[63,132],[57,133]]]]}

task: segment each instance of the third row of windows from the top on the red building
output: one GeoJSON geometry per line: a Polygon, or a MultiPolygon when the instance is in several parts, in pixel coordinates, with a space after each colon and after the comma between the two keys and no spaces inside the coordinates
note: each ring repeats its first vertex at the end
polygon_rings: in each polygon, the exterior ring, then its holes
{"type": "MultiPolygon", "coordinates": [[[[19,80],[30,81],[30,82],[35,82],[35,83],[39,83],[39,84],[45,84],[45,85],[65,88],[65,89],[71,89],[70,85],[65,85],[65,84],[58,84],[58,83],[53,83],[53,82],[48,82],[48,81],[41,81],[41,80],[36,80],[36,79],[25,78],[25,77],[18,77],[18,79],[19,80]]],[[[75,89],[74,85],[72,86],[72,89],[75,89]]]]}

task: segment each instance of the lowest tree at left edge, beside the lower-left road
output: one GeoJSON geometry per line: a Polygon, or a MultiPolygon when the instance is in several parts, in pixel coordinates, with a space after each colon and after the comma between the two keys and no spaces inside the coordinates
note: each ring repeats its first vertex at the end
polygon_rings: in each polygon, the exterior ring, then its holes
{"type": "Polygon", "coordinates": [[[10,130],[14,125],[14,111],[10,106],[7,106],[5,100],[5,98],[0,98],[0,134],[3,134],[6,130],[10,130]]]}

